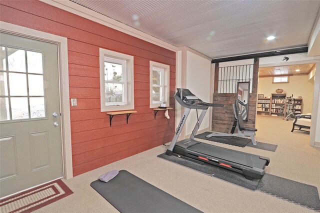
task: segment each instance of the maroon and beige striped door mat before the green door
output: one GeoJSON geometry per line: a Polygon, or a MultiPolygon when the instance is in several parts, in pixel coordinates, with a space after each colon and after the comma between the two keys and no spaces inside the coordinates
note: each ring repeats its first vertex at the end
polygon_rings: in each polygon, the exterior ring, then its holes
{"type": "Polygon", "coordinates": [[[31,212],[73,192],[61,179],[37,186],[0,200],[0,212],[31,212]]]}

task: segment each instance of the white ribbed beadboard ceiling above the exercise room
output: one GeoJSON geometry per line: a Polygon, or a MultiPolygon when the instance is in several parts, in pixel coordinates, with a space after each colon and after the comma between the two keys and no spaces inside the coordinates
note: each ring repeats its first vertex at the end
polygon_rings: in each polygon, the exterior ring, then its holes
{"type": "Polygon", "coordinates": [[[210,58],[306,46],[320,8],[320,0],[71,1],[210,58]]]}

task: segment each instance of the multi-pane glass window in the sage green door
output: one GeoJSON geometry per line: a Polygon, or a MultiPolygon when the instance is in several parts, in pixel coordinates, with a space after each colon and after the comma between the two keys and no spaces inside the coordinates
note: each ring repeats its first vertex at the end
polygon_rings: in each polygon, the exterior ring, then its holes
{"type": "Polygon", "coordinates": [[[0,120],[45,118],[43,53],[0,46],[0,120]]]}

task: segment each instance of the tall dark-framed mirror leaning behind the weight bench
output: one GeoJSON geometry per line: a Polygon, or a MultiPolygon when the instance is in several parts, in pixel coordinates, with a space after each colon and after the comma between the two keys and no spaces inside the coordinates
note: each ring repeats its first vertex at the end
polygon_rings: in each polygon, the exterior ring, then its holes
{"type": "Polygon", "coordinates": [[[243,81],[237,83],[237,94],[236,99],[239,104],[242,118],[244,121],[248,120],[248,110],[249,110],[249,89],[250,89],[250,81],[243,81]]]}

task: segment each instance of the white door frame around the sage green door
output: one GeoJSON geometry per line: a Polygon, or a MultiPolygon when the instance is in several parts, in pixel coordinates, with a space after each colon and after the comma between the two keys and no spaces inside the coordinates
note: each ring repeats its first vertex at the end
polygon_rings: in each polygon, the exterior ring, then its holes
{"type": "Polygon", "coordinates": [[[73,172],[71,152],[67,38],[3,21],[0,21],[0,30],[14,35],[57,44],[59,75],[59,85],[57,86],[59,87],[60,95],[62,166],[63,177],[65,179],[69,179],[73,177],[73,172]]]}

